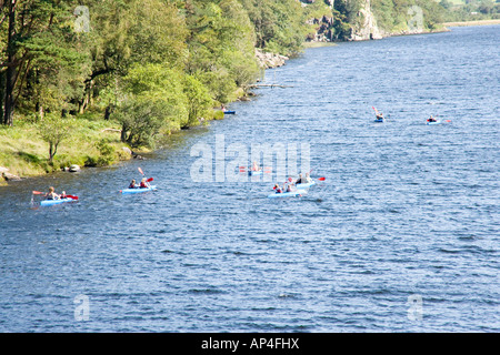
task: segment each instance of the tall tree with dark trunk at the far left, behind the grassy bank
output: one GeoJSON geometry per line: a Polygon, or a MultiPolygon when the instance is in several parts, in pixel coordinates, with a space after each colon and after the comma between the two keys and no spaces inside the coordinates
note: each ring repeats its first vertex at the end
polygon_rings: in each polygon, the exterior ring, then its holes
{"type": "MultiPolygon", "coordinates": [[[[0,72],[3,77],[0,80],[3,83],[2,123],[12,125],[14,108],[23,90],[32,89],[33,84],[46,84],[40,80],[54,79],[53,73],[62,68],[72,73],[69,77],[59,77],[58,81],[60,83],[61,79],[66,78],[66,82],[71,85],[70,77],[84,68],[82,63],[87,59],[86,54],[78,50],[70,2],[9,0],[8,7],[3,4],[1,10],[6,16],[3,19],[8,19],[6,31],[4,21],[0,22],[0,33],[3,37],[0,40],[0,72]],[[43,78],[40,75],[43,71],[51,73],[43,78]]],[[[30,94],[26,94],[31,99],[30,94]]],[[[64,99],[68,101],[70,98],[64,99]]]]}

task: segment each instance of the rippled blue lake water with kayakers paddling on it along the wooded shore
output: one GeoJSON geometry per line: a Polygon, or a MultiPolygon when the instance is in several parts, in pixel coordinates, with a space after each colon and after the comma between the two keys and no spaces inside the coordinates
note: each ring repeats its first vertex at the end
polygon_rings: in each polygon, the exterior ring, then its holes
{"type": "Polygon", "coordinates": [[[287,88],[144,161],[1,189],[0,332],[500,331],[499,42],[490,26],[310,49],[267,71],[287,88]],[[191,148],[222,135],[307,143],[326,180],[293,199],[194,182],[191,148]],[[138,168],[159,190],[118,194],[138,168]],[[30,209],[49,185],[80,200],[30,209]]]}

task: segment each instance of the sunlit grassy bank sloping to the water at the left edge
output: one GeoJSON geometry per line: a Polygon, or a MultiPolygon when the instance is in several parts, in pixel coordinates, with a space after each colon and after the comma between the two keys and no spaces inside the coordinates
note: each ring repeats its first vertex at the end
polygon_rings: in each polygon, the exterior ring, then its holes
{"type": "MultiPolygon", "coordinates": [[[[72,164],[79,166],[106,166],[130,154],[120,142],[118,122],[94,119],[92,115],[72,120],[58,146],[52,162],[49,161],[49,143],[41,135],[41,124],[22,119],[14,126],[0,126],[0,166],[19,178],[51,173],[72,164]]],[[[0,179],[2,181],[2,179],[0,179]]]]}

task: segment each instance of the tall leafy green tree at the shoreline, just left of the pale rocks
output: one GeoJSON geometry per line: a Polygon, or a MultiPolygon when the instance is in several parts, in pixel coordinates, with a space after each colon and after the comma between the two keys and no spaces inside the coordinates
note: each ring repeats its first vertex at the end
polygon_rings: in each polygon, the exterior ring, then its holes
{"type": "Polygon", "coordinates": [[[191,2],[188,19],[187,71],[209,88],[213,100],[228,102],[239,85],[259,74],[251,22],[236,0],[191,2]]]}

